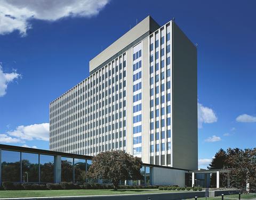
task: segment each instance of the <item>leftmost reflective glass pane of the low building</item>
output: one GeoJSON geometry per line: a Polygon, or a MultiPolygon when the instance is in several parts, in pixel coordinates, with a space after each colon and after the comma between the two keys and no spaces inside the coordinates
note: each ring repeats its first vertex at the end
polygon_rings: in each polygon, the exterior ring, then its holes
{"type": "Polygon", "coordinates": [[[20,182],[20,152],[2,150],[2,181],[20,182]]]}

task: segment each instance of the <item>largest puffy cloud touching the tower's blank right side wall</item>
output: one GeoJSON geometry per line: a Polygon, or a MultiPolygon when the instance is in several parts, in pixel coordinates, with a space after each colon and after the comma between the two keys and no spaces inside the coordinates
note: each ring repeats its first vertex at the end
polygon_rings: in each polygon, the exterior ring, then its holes
{"type": "Polygon", "coordinates": [[[210,109],[210,107],[205,107],[200,103],[197,103],[197,114],[198,128],[202,128],[203,123],[214,123],[218,120],[216,114],[212,109],[210,109]]]}

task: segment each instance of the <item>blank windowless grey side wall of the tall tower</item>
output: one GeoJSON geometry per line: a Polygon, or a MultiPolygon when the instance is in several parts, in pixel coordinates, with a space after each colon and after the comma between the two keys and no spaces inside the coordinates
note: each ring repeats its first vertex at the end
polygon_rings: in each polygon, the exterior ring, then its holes
{"type": "Polygon", "coordinates": [[[197,170],[197,49],[172,24],[173,167],[197,170]]]}

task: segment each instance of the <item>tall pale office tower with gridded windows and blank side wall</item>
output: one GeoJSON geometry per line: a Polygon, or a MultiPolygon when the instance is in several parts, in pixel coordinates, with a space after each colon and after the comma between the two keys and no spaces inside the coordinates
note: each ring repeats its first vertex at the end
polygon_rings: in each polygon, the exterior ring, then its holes
{"type": "Polygon", "coordinates": [[[50,149],[197,170],[197,50],[173,20],[148,16],[90,61],[50,103],[50,149]]]}

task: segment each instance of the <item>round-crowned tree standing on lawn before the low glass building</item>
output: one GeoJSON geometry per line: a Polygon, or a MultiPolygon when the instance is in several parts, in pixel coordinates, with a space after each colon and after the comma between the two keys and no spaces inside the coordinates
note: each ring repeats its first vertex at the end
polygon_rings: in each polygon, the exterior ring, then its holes
{"type": "Polygon", "coordinates": [[[139,157],[133,157],[123,151],[106,151],[93,157],[86,176],[91,179],[111,180],[114,190],[117,190],[121,180],[142,179],[141,167],[142,162],[139,157]]]}

